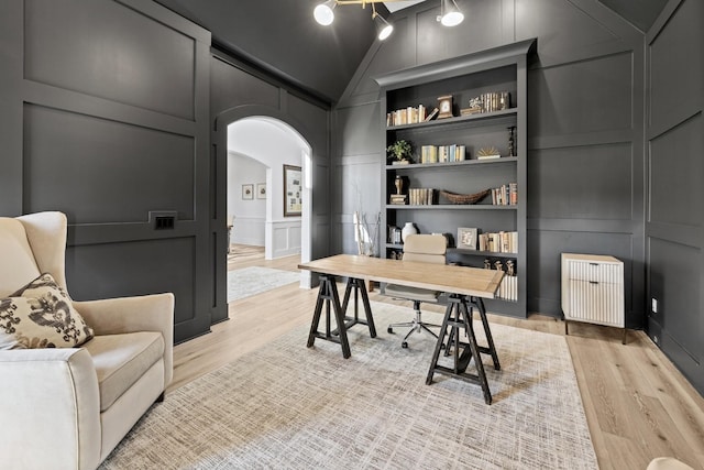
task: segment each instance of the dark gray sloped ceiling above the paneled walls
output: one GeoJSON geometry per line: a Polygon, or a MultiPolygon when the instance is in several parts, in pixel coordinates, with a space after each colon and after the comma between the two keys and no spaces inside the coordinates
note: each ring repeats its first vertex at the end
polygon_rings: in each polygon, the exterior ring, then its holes
{"type": "MultiPolygon", "coordinates": [[[[210,31],[216,47],[331,103],[340,99],[375,39],[369,6],[337,8],[334,23],[324,28],[312,18],[312,9],[321,0],[156,1],[210,31]]],[[[472,1],[458,3],[462,8],[472,1]]],[[[668,3],[668,0],[598,1],[644,33],[668,3]]],[[[380,9],[386,12],[385,7],[380,9]]]]}

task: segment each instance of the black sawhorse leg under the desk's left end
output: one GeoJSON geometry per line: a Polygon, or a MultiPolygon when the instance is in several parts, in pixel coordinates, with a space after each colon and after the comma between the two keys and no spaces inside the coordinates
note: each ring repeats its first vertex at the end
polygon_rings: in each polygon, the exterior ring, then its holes
{"type": "Polygon", "coordinates": [[[348,328],[356,325],[366,325],[370,328],[370,336],[376,337],[376,328],[374,327],[374,318],[372,318],[372,307],[370,306],[369,295],[363,280],[349,278],[348,285],[344,291],[344,300],[340,304],[340,296],[338,295],[338,286],[333,275],[321,274],[320,287],[318,291],[318,299],[316,302],[316,309],[312,315],[312,323],[310,324],[310,332],[308,334],[308,348],[311,348],[316,342],[316,338],[324,339],[326,341],[337,342],[342,347],[342,357],[348,359],[352,353],[350,352],[350,343],[348,341],[348,328]],[[350,302],[350,294],[354,288],[354,317],[345,317],[348,304],[350,302]],[[362,295],[362,304],[364,305],[364,313],[366,320],[359,318],[359,303],[358,296],[362,295]],[[320,316],[322,315],[322,306],[326,307],[326,331],[321,334],[318,331],[320,325],[320,316]],[[334,319],[338,328],[332,331],[330,329],[330,304],[332,304],[332,310],[334,311],[334,319]]]}

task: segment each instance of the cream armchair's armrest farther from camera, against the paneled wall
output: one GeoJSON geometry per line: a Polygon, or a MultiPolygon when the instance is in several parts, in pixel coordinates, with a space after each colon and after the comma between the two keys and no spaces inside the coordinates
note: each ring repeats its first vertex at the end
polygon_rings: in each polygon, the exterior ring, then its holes
{"type": "Polygon", "coordinates": [[[174,294],[74,302],[96,335],[160,331],[164,336],[164,386],[174,376],[174,294]]]}

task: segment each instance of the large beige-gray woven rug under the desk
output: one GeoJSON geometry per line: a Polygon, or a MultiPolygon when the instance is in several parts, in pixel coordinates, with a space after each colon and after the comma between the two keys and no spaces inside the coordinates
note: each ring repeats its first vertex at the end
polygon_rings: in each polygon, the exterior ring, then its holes
{"type": "Polygon", "coordinates": [[[353,327],[350,359],[295,329],[167,394],[102,468],[597,468],[563,337],[493,325],[502,370],[484,359],[487,406],[477,385],[426,385],[435,341],[414,334],[402,349],[402,331],[386,332],[411,309],[372,308],[378,337],[353,327]]]}

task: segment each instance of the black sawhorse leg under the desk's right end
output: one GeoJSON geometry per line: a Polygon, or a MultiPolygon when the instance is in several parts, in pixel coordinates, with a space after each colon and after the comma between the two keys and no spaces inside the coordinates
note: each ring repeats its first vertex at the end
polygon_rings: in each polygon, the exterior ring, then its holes
{"type": "Polygon", "coordinates": [[[484,393],[484,402],[487,405],[492,404],[492,392],[488,387],[488,381],[486,380],[486,373],[484,371],[484,364],[482,362],[481,353],[491,354],[494,362],[494,369],[501,370],[498,362],[498,356],[496,354],[496,348],[494,347],[494,339],[492,338],[492,331],[488,327],[486,319],[486,310],[484,309],[484,302],[481,297],[470,297],[464,295],[451,295],[446,309],[444,318],[442,320],[442,327],[440,328],[440,335],[436,349],[432,353],[432,360],[430,362],[430,370],[428,371],[428,378],[426,383],[430,385],[436,372],[453,376],[455,379],[463,380],[465,382],[475,383],[482,386],[484,393]],[[486,335],[486,347],[479,346],[476,342],[476,336],[474,335],[474,325],[472,323],[471,307],[468,304],[472,304],[480,311],[480,318],[482,319],[482,326],[486,335]],[[450,331],[448,332],[448,328],[450,331]],[[466,332],[469,343],[460,341],[460,328],[466,332]],[[438,359],[440,358],[440,351],[444,343],[444,337],[448,335],[448,343],[446,345],[446,354],[449,353],[452,348],[453,367],[448,368],[444,365],[438,365],[438,359]],[[460,353],[460,349],[462,352],[460,353]],[[476,365],[476,374],[470,374],[466,372],[466,368],[470,361],[474,358],[476,365]]]}

